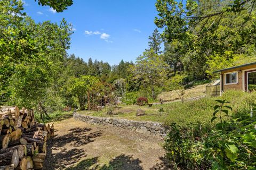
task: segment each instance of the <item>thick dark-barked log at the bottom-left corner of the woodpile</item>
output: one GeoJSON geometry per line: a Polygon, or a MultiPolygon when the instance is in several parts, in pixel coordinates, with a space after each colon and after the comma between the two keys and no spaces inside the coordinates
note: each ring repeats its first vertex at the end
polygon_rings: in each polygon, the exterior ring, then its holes
{"type": "Polygon", "coordinates": [[[0,154],[0,166],[11,164],[13,164],[14,168],[19,165],[19,154],[17,149],[0,154]]]}

